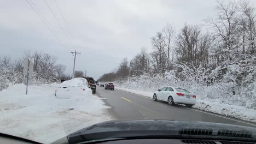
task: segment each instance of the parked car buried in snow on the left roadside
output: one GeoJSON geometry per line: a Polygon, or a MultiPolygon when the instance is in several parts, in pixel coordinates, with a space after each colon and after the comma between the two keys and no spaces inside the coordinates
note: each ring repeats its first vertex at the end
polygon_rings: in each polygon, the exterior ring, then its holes
{"type": "Polygon", "coordinates": [[[71,95],[82,93],[88,88],[87,80],[84,78],[74,78],[68,81],[63,81],[55,90],[56,98],[70,98],[71,95]]]}

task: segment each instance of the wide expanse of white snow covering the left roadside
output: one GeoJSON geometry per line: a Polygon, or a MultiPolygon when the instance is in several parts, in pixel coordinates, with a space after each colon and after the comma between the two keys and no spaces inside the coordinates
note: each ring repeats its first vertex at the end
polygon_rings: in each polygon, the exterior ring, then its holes
{"type": "Polygon", "coordinates": [[[103,101],[75,88],[69,97],[55,97],[59,84],[26,86],[18,84],[0,92],[0,133],[51,143],[89,125],[112,120],[103,101]],[[79,91],[79,92],[78,92],[79,91]]]}

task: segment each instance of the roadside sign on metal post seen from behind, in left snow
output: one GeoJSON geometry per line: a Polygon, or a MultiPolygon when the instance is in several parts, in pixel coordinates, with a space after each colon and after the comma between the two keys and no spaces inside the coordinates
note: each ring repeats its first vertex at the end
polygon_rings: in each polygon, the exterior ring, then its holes
{"type": "MultiPolygon", "coordinates": [[[[27,75],[27,86],[28,86],[28,79],[30,75],[33,74],[33,67],[34,67],[34,58],[26,57],[24,59],[23,74],[27,75]]],[[[27,87],[26,87],[26,94],[27,94],[27,87]]]]}

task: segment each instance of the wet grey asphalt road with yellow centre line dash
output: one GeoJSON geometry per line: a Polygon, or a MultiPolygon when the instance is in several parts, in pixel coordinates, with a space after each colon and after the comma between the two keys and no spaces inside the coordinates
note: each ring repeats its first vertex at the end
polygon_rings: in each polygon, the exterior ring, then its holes
{"type": "Polygon", "coordinates": [[[216,122],[255,127],[255,123],[241,121],[235,118],[190,109],[182,105],[170,106],[164,101],[154,101],[151,98],[121,91],[106,90],[97,86],[96,94],[104,98],[110,115],[116,119],[172,119],[183,121],[216,122]]]}

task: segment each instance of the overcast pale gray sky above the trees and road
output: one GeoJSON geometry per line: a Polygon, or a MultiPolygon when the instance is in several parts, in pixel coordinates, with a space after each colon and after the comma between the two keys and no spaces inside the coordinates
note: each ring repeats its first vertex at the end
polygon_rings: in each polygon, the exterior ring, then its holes
{"type": "Polygon", "coordinates": [[[179,29],[185,22],[200,24],[216,15],[214,0],[177,1],[65,1],[46,0],[66,37],[43,0],[0,0],[0,57],[21,57],[25,50],[47,52],[67,66],[72,74],[73,55],[77,50],[75,70],[87,70],[97,79],[117,68],[124,57],[131,59],[141,47],[151,49],[150,37],[161,31],[168,22],[179,29]],[[50,32],[27,3],[32,2],[63,44],[50,32]],[[67,24],[67,25],[66,25],[67,24]]]}

